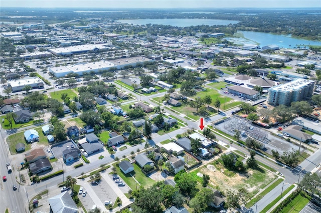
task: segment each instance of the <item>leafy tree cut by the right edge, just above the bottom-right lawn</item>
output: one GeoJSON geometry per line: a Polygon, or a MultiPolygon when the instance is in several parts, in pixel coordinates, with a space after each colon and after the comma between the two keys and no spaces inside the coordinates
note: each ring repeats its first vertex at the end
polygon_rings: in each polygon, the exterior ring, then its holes
{"type": "Polygon", "coordinates": [[[307,172],[298,186],[300,189],[308,191],[310,194],[317,193],[317,188],[321,186],[321,177],[316,173],[307,172]]]}

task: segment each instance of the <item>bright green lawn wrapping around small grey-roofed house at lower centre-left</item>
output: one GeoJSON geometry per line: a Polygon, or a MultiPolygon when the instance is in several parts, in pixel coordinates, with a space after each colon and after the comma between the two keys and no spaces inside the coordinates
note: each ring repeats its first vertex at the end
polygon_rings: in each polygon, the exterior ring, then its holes
{"type": "MultiPolygon", "coordinates": [[[[133,163],[134,170],[124,174],[122,171],[120,171],[118,164],[113,163],[112,165],[116,168],[117,174],[126,182],[126,184],[132,189],[135,190],[136,186],[137,189],[139,188],[139,184],[143,186],[144,188],[147,188],[151,186],[155,181],[149,177],[147,177],[143,172],[141,172],[140,167],[136,164],[133,163]],[[136,184],[136,181],[132,176],[135,177],[135,179],[139,182],[139,184],[136,184]]],[[[113,173],[113,172],[111,172],[113,173]]]]}

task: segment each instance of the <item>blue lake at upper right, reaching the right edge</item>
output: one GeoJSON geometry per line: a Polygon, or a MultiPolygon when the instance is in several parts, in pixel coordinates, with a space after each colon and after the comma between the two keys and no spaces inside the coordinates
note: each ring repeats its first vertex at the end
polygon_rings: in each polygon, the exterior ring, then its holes
{"type": "Polygon", "coordinates": [[[300,45],[301,47],[307,45],[321,45],[321,41],[312,41],[312,40],[305,40],[305,39],[298,39],[293,38],[291,35],[277,35],[267,32],[253,32],[253,31],[237,31],[238,33],[242,33],[244,38],[234,38],[234,37],[227,37],[227,40],[230,40],[237,44],[244,44],[244,43],[254,43],[259,44],[260,47],[266,46],[269,44],[276,44],[280,48],[293,48],[296,45],[300,45]]]}

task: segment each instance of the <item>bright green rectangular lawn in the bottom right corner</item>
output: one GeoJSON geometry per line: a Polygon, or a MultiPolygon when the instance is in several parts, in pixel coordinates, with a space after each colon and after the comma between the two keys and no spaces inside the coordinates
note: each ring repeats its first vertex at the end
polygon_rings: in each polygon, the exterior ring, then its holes
{"type": "Polygon", "coordinates": [[[280,211],[282,213],[296,213],[300,212],[304,206],[310,201],[311,197],[304,191],[300,191],[291,202],[284,206],[280,211]]]}

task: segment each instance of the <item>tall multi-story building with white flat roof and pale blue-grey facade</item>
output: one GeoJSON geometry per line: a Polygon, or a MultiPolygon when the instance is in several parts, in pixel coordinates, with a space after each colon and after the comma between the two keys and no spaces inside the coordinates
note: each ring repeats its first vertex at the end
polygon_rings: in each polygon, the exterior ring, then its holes
{"type": "Polygon", "coordinates": [[[288,83],[269,88],[269,104],[289,105],[293,101],[308,99],[312,96],[314,81],[296,78],[288,83]]]}

